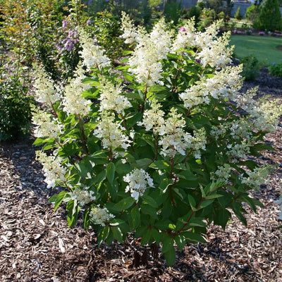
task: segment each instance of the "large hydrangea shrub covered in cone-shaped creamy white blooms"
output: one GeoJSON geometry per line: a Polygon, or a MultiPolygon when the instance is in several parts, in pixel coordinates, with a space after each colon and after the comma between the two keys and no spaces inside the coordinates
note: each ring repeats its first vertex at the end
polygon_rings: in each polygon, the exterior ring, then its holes
{"type": "Polygon", "coordinates": [[[171,265],[174,243],[204,242],[207,226],[225,228],[230,210],[246,224],[243,202],[262,206],[248,191],[267,169],[252,156],[272,149],[264,135],[282,107],[239,91],[242,66],[231,66],[230,33],[219,37],[219,23],[197,32],[189,21],[174,34],[164,20],[152,32],[122,20],[133,49],[123,66],[80,31],[83,61],[66,87],[39,68],[37,159],[48,186],[66,188],[51,202],[67,202],[70,226],[80,212],[99,243],[128,233],[161,243],[171,265]]]}

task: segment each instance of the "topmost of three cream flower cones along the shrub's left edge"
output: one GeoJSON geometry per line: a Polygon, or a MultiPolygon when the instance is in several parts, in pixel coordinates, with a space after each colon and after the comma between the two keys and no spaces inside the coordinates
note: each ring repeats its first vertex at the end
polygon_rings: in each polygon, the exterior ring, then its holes
{"type": "Polygon", "coordinates": [[[54,82],[51,80],[49,75],[45,73],[42,66],[34,66],[35,75],[35,99],[37,102],[45,104],[50,107],[57,101],[61,100],[61,94],[58,89],[54,86],[54,82]]]}

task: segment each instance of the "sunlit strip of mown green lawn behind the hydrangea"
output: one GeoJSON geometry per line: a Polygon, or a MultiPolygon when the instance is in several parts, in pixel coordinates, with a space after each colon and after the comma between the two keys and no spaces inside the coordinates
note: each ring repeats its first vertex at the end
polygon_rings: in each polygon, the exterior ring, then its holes
{"type": "Polygon", "coordinates": [[[235,45],[238,59],[254,54],[265,66],[282,62],[282,49],[277,49],[277,46],[282,47],[281,37],[232,35],[231,45],[235,45]]]}

